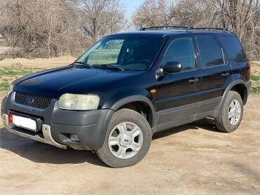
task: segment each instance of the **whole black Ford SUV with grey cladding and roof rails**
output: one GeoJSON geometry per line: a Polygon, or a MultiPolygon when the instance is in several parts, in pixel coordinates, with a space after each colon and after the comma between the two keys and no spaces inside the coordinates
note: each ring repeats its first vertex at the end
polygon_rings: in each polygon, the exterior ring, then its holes
{"type": "Polygon", "coordinates": [[[14,81],[1,107],[6,129],[96,151],[115,168],[141,161],[161,130],[204,117],[236,130],[251,87],[238,37],[218,28],[153,28],[105,36],[72,65],[14,81]]]}

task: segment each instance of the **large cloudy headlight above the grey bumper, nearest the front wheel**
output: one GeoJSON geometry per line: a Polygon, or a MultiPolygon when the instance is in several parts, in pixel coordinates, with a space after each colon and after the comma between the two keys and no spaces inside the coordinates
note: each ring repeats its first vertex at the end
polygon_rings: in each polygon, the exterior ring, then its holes
{"type": "Polygon", "coordinates": [[[89,110],[98,109],[98,95],[77,95],[65,93],[60,96],[60,109],[89,110]]]}

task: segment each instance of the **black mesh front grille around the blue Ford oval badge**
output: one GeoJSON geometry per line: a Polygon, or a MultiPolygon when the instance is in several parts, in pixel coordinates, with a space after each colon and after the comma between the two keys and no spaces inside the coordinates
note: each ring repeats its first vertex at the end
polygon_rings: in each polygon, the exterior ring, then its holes
{"type": "MultiPolygon", "coordinates": [[[[30,99],[32,100],[32,99],[30,99]]],[[[21,105],[27,105],[30,107],[37,107],[40,109],[47,109],[48,106],[51,104],[51,98],[50,97],[43,97],[39,95],[32,95],[28,93],[21,93],[21,92],[15,92],[15,102],[18,102],[18,104],[21,105]],[[33,98],[33,102],[28,102],[27,100],[29,98],[33,98]]]]}

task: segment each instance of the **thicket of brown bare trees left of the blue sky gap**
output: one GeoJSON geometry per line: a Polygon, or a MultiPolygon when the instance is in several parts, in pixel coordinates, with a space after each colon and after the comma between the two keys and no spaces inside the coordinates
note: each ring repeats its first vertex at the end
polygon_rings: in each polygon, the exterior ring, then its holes
{"type": "Polygon", "coordinates": [[[25,57],[79,55],[125,25],[119,0],[0,0],[0,6],[0,32],[11,53],[25,57]]]}

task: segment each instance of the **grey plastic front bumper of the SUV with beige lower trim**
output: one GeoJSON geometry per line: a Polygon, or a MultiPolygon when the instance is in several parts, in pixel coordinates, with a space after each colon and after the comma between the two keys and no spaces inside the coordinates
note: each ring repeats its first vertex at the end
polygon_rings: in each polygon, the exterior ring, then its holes
{"type": "Polygon", "coordinates": [[[70,111],[59,109],[58,100],[51,100],[47,109],[37,109],[20,105],[14,100],[15,92],[5,97],[1,107],[1,118],[4,126],[11,133],[27,137],[32,140],[52,144],[66,149],[96,150],[102,147],[105,140],[108,123],[114,111],[112,109],[99,109],[91,111],[70,111]],[[8,123],[8,114],[15,112],[28,117],[38,117],[44,123],[37,133],[31,130],[12,126],[8,123]],[[79,141],[70,140],[70,135],[78,135],[79,141]]]}

